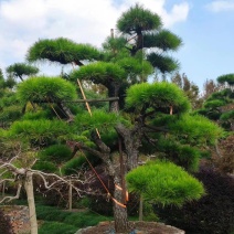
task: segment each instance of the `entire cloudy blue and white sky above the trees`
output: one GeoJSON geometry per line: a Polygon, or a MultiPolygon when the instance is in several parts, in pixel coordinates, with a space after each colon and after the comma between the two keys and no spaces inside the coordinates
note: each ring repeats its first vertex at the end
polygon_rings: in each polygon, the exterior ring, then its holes
{"type": "MultiPolygon", "coordinates": [[[[0,0],[0,67],[24,62],[39,39],[63,36],[99,47],[121,12],[136,2],[182,38],[173,56],[180,73],[201,88],[206,79],[234,73],[234,0],[0,0]]],[[[46,74],[61,70],[40,68],[46,74]]]]}

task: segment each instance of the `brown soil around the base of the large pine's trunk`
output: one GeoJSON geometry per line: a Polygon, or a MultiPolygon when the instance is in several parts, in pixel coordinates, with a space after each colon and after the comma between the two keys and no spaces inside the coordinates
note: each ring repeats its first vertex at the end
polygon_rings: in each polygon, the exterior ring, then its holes
{"type": "MultiPolygon", "coordinates": [[[[129,222],[129,234],[184,234],[184,231],[156,222],[129,222]]],[[[79,230],[77,234],[117,234],[114,222],[100,222],[97,226],[79,230]]]]}

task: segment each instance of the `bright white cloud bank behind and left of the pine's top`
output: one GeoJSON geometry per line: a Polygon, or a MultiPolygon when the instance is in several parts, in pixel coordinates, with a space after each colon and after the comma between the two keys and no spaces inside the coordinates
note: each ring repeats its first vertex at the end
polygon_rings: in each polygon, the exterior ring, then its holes
{"type": "MultiPolygon", "coordinates": [[[[179,1],[179,0],[178,0],[179,1]]],[[[164,26],[187,19],[189,4],[164,9],[166,0],[138,0],[161,15],[164,26]]],[[[0,65],[22,62],[39,39],[64,36],[100,46],[121,12],[136,0],[0,0],[0,65]]]]}

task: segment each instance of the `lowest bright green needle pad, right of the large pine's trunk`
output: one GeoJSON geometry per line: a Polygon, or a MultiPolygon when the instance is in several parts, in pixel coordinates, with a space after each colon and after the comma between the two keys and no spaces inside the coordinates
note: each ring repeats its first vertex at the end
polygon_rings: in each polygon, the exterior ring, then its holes
{"type": "Polygon", "coordinates": [[[200,199],[204,189],[192,176],[169,161],[151,161],[126,176],[129,191],[140,193],[146,201],[162,205],[182,205],[200,199]]]}

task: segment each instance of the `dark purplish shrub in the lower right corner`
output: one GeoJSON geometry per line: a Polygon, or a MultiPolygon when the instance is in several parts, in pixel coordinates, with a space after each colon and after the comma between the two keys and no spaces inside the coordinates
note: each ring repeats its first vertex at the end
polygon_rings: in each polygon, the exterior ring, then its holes
{"type": "Polygon", "coordinates": [[[181,209],[153,205],[155,212],[161,221],[189,234],[233,234],[234,179],[209,168],[195,177],[203,182],[206,195],[181,209]]]}

